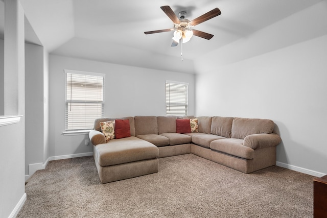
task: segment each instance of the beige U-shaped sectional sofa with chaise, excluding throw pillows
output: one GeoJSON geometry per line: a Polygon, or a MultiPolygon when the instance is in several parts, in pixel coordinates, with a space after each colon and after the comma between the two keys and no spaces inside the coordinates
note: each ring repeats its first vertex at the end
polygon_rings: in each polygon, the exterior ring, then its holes
{"type": "Polygon", "coordinates": [[[270,119],[221,116],[134,116],[130,137],[106,141],[99,118],[89,138],[102,183],[158,172],[157,158],[193,153],[243,173],[275,165],[281,138],[270,119]],[[176,119],[196,118],[198,132],[176,133],[176,119]]]}

